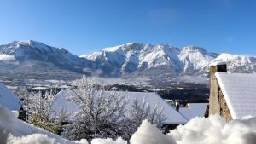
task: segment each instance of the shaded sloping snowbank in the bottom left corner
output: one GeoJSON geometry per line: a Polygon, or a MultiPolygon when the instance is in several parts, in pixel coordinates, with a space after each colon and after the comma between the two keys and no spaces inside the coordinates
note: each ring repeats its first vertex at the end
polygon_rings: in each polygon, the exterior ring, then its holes
{"type": "Polygon", "coordinates": [[[0,143],[7,144],[73,144],[60,136],[39,129],[15,118],[15,114],[0,106],[0,143]]]}

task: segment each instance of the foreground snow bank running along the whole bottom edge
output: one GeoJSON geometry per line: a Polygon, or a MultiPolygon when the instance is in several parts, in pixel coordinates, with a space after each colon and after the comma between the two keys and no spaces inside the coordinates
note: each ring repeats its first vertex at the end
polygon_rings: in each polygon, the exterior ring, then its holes
{"type": "MultiPolygon", "coordinates": [[[[67,141],[45,130],[38,129],[15,118],[15,115],[0,106],[0,143],[8,144],[72,144],[81,141],[67,141]]],[[[131,144],[253,144],[256,141],[256,118],[233,120],[226,123],[218,115],[210,118],[194,118],[188,124],[163,135],[154,125],[143,121],[132,135],[131,144]]],[[[127,144],[122,139],[94,139],[92,144],[127,144]]]]}

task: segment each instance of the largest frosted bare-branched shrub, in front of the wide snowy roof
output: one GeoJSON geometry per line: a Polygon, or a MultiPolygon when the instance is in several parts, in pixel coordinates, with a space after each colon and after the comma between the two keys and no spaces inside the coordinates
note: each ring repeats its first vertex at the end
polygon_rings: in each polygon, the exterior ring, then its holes
{"type": "Polygon", "coordinates": [[[71,124],[67,124],[62,133],[70,140],[93,138],[116,138],[121,130],[121,119],[125,114],[125,95],[116,91],[106,92],[104,86],[93,83],[90,78],[81,78],[75,82],[76,87],[70,100],[79,105],[71,124]]]}

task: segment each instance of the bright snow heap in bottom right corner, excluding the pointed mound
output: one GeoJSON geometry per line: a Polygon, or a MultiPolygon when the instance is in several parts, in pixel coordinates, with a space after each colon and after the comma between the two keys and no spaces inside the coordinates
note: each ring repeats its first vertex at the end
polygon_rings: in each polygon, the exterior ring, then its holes
{"type": "Polygon", "coordinates": [[[177,144],[253,144],[256,141],[256,118],[230,123],[218,115],[194,118],[167,135],[177,144]]]}

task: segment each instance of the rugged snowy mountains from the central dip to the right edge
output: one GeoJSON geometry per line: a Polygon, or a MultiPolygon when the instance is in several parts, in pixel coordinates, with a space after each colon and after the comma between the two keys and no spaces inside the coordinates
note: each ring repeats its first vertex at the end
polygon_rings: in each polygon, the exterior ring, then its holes
{"type": "Polygon", "coordinates": [[[195,46],[176,48],[168,44],[127,43],[80,57],[91,60],[96,69],[110,75],[133,72],[205,75],[210,63],[216,60],[226,61],[230,72],[256,72],[256,58],[252,56],[218,55],[195,46]]]}

